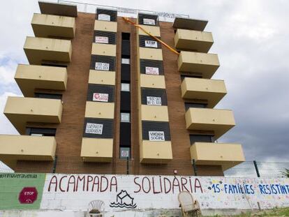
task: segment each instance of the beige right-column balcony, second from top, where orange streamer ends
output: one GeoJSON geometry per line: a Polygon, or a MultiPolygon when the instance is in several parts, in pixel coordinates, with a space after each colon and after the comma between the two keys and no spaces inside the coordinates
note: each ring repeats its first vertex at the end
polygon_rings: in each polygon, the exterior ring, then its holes
{"type": "Polygon", "coordinates": [[[217,54],[181,51],[177,65],[180,72],[202,73],[203,78],[211,78],[220,63],[217,54]]]}

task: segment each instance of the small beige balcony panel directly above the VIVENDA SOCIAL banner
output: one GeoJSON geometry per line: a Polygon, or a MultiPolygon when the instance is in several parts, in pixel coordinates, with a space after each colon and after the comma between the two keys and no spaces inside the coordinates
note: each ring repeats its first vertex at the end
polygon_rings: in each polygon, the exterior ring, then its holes
{"type": "Polygon", "coordinates": [[[142,105],[142,121],[168,121],[168,106],[142,105]]]}

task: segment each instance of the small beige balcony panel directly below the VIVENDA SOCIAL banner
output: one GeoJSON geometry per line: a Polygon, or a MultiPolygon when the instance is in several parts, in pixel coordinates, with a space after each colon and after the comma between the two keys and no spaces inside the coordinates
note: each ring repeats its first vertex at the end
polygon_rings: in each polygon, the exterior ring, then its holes
{"type": "Polygon", "coordinates": [[[170,141],[142,140],[140,146],[140,163],[168,163],[172,160],[170,141]]]}

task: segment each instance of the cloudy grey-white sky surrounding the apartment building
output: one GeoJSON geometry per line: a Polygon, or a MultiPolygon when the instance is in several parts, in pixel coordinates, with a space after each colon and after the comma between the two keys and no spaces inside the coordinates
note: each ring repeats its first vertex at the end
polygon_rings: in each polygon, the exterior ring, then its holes
{"type": "MultiPolygon", "coordinates": [[[[209,20],[205,30],[214,36],[209,52],[221,62],[213,78],[225,80],[228,89],[217,107],[232,109],[237,124],[218,142],[241,143],[246,160],[289,161],[289,1],[84,2],[209,20]]],[[[22,95],[13,77],[17,63],[28,63],[22,47],[25,37],[33,36],[33,13],[39,13],[36,0],[1,2],[0,134],[17,133],[2,111],[7,96],[22,95]]]]}

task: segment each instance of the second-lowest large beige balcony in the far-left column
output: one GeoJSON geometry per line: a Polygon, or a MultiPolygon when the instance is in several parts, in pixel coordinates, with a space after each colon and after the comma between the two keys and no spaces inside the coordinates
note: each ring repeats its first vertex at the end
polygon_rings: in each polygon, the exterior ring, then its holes
{"type": "Polygon", "coordinates": [[[8,97],[4,114],[20,134],[25,133],[27,122],[59,124],[61,100],[47,98],[8,97]]]}

